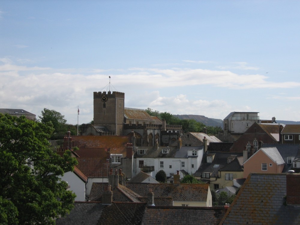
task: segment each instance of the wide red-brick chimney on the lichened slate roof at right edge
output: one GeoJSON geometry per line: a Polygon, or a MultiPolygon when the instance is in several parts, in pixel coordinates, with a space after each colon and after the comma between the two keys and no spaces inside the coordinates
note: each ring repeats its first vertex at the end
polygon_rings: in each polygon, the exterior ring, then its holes
{"type": "Polygon", "coordinates": [[[300,174],[286,174],[286,204],[300,205],[300,174]]]}

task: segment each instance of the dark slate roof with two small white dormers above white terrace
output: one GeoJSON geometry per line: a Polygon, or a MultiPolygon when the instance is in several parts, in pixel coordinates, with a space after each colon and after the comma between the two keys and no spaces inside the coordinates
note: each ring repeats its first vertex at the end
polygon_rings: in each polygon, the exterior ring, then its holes
{"type": "MultiPolygon", "coordinates": [[[[177,152],[177,147],[166,147],[159,146],[157,149],[155,146],[139,146],[137,151],[134,153],[134,158],[174,158],[177,152]],[[138,154],[139,149],[147,149],[146,154],[138,154]],[[170,149],[169,153],[163,154],[162,149],[170,149]]],[[[145,171],[146,172],[146,171],[145,171]]]]}

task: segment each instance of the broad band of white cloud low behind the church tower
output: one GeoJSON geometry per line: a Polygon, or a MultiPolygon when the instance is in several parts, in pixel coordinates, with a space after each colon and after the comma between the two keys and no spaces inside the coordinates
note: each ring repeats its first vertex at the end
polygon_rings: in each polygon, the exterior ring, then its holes
{"type": "MultiPolygon", "coordinates": [[[[228,104],[233,100],[231,98],[224,100],[222,92],[229,92],[230,89],[253,91],[258,88],[300,86],[299,82],[267,82],[267,76],[239,75],[230,71],[187,68],[53,70],[49,67],[18,66],[8,58],[1,58],[0,61],[4,63],[0,65],[2,108],[23,108],[37,115],[44,108],[49,108],[65,115],[71,124],[77,123],[77,106],[80,110],[79,123],[90,122],[93,119],[93,92],[108,91],[108,76],[112,77],[112,84],[118,88],[117,91],[125,93],[125,107],[140,109],[150,107],[160,112],[196,114],[219,119],[223,119],[231,111],[238,111],[239,108],[238,103],[235,106],[228,104]],[[220,97],[208,98],[208,95],[202,93],[200,97],[183,94],[192,88],[198,93],[199,86],[208,89],[218,87],[220,97]]],[[[111,88],[111,91],[115,90],[116,88],[111,88]]],[[[248,92],[241,93],[235,91],[235,95],[244,95],[248,92]]],[[[300,99],[299,96],[270,98],[300,99]]],[[[248,111],[251,106],[240,109],[248,111]]]]}

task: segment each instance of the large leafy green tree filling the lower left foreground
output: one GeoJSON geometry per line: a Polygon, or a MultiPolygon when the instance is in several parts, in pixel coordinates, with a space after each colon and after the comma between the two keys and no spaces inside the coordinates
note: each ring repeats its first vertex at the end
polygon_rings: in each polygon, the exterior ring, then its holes
{"type": "Polygon", "coordinates": [[[75,194],[58,176],[77,163],[49,149],[48,124],[0,113],[0,224],[55,224],[75,194]]]}

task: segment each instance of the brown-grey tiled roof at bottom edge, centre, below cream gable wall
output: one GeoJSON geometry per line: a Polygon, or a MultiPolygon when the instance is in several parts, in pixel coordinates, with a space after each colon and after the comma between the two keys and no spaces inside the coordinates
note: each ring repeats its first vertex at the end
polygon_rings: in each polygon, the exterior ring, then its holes
{"type": "Polygon", "coordinates": [[[224,207],[158,207],[147,206],[143,225],[152,224],[218,224],[224,214],[224,207]]]}

